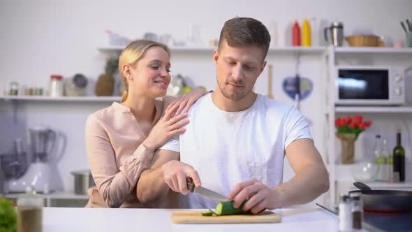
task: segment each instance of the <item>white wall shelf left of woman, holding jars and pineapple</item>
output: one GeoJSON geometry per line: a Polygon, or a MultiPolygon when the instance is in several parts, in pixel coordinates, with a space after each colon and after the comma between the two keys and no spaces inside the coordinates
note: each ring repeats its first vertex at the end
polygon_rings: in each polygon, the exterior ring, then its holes
{"type": "Polygon", "coordinates": [[[0,96],[0,100],[10,101],[75,101],[75,102],[111,102],[122,100],[121,96],[0,96]]]}

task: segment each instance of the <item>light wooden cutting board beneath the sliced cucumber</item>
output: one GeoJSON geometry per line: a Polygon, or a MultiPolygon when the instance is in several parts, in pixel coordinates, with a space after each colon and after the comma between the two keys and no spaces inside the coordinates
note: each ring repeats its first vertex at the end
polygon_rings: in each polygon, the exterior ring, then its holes
{"type": "Polygon", "coordinates": [[[279,223],[281,215],[272,211],[259,215],[202,216],[203,211],[173,211],[172,222],[176,224],[223,224],[223,223],[279,223]]]}

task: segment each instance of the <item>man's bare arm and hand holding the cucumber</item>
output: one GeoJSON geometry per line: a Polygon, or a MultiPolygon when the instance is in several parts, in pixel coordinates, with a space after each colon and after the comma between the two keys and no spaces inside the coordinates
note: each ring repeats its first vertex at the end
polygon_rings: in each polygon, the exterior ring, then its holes
{"type": "Polygon", "coordinates": [[[289,205],[313,201],[329,189],[328,171],[321,154],[309,139],[295,140],[286,147],[286,157],[295,171],[295,176],[284,184],[270,189],[258,180],[247,180],[237,184],[230,191],[229,199],[242,210],[258,213],[264,209],[273,210],[289,205]]]}

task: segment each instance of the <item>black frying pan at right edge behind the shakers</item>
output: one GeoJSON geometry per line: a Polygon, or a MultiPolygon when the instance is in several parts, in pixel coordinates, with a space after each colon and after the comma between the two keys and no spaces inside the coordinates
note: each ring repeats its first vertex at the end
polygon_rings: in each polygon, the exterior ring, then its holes
{"type": "Polygon", "coordinates": [[[361,190],[349,191],[349,194],[354,192],[362,194],[365,212],[412,212],[412,191],[371,190],[361,182],[355,182],[353,185],[361,190]]]}

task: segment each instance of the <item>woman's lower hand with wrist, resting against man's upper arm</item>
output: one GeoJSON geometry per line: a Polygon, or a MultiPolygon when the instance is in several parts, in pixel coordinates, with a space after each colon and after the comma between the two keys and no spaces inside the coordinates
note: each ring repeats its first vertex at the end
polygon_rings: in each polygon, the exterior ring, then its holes
{"type": "Polygon", "coordinates": [[[187,117],[187,113],[174,116],[178,107],[179,105],[176,104],[168,108],[161,119],[159,119],[159,122],[153,126],[149,136],[147,136],[142,143],[147,149],[154,152],[154,150],[165,144],[172,136],[179,135],[186,131],[182,126],[188,124],[189,119],[184,119],[187,117]]]}

